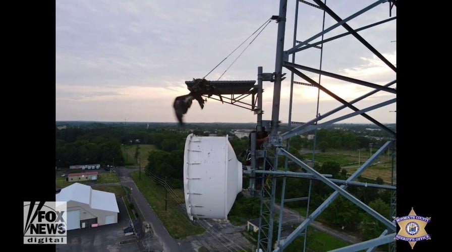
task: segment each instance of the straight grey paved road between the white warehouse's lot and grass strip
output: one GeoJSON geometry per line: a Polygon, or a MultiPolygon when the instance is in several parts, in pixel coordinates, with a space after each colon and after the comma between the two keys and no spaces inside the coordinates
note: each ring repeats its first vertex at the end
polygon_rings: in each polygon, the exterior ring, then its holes
{"type": "MultiPolygon", "coordinates": [[[[138,190],[137,185],[130,177],[130,172],[137,170],[136,168],[125,168],[125,167],[118,167],[117,173],[119,175],[120,181],[124,186],[132,188],[132,195],[134,199],[137,202],[137,205],[139,206],[141,212],[144,215],[145,221],[151,224],[152,230],[153,230],[153,236],[157,238],[159,244],[150,244],[152,245],[153,250],[160,250],[160,251],[170,251],[170,252],[178,252],[182,251],[179,247],[178,242],[175,238],[173,238],[168,231],[166,231],[163,224],[158,219],[157,215],[155,214],[154,210],[151,206],[149,206],[146,198],[141,194],[141,192],[138,190]],[[160,249],[158,249],[160,247],[160,249]]],[[[146,241],[143,241],[143,243],[148,243],[146,241]]],[[[149,242],[149,243],[155,243],[155,242],[149,242]]]]}

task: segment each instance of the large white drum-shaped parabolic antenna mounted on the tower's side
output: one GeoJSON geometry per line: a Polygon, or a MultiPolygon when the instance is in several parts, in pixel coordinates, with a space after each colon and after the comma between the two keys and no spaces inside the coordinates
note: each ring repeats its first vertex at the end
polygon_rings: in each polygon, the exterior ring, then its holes
{"type": "Polygon", "coordinates": [[[228,219],[242,191],[242,163],[226,137],[188,135],[184,192],[188,217],[228,219]]]}

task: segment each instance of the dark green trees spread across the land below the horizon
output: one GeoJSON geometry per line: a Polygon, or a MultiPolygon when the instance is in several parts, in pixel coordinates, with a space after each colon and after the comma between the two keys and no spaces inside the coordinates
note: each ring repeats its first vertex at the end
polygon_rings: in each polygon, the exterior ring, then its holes
{"type": "MultiPolygon", "coordinates": [[[[64,167],[75,164],[111,164],[123,165],[124,158],[121,153],[121,145],[134,144],[139,140],[141,144],[152,144],[157,149],[149,153],[148,165],[145,169],[150,169],[159,176],[167,177],[175,187],[183,188],[183,162],[184,145],[187,136],[190,133],[195,135],[208,136],[211,131],[205,129],[196,130],[173,130],[166,128],[145,128],[143,125],[134,125],[132,127],[123,127],[123,125],[96,125],[88,128],[67,128],[56,131],[56,151],[55,162],[57,166],[64,167]]],[[[230,134],[230,130],[219,130],[218,135],[230,134]]],[[[232,134],[230,134],[231,136],[232,134]]],[[[327,150],[329,148],[356,150],[357,148],[367,148],[372,141],[373,148],[378,148],[382,140],[369,140],[364,136],[357,136],[349,131],[335,129],[319,129],[315,134],[317,147],[327,150]],[[324,143],[323,146],[321,143],[324,143]]],[[[387,137],[389,138],[389,137],[387,137]]],[[[235,136],[229,139],[234,151],[243,164],[245,163],[245,153],[248,150],[248,138],[239,139],[235,136]]],[[[302,148],[312,148],[314,139],[308,139],[307,134],[303,137],[294,137],[290,139],[290,152],[301,158],[297,150],[302,148]]],[[[278,157],[278,164],[284,164],[284,157],[278,157]]],[[[347,172],[341,170],[338,163],[325,162],[322,165],[314,165],[320,173],[332,174],[333,178],[346,179],[347,172]]],[[[283,167],[279,167],[283,169],[283,167]]],[[[291,171],[300,171],[300,167],[294,163],[288,165],[291,171]]],[[[277,179],[276,198],[281,195],[282,179],[277,179]]],[[[383,183],[381,178],[368,180],[359,178],[358,181],[383,183]]],[[[244,187],[248,184],[248,179],[243,181],[244,187]]],[[[321,181],[300,179],[294,177],[287,178],[285,198],[305,197],[310,192],[310,209],[316,209],[331,193],[332,188],[321,181]],[[287,190],[290,188],[290,190],[287,190]]],[[[371,208],[378,211],[381,215],[388,217],[390,204],[390,191],[370,187],[349,186],[348,192],[352,193],[360,201],[368,204],[371,208]]],[[[254,216],[258,213],[258,204],[256,200],[246,199],[248,197],[238,197],[238,202],[245,201],[243,204],[235,204],[231,210],[231,215],[249,215],[254,216]]],[[[287,202],[286,206],[292,208],[304,207],[308,205],[307,201],[287,202]]],[[[361,229],[365,238],[377,237],[384,229],[383,224],[379,223],[373,217],[365,213],[355,204],[339,196],[322,213],[322,218],[336,227],[347,229],[361,229]]]]}

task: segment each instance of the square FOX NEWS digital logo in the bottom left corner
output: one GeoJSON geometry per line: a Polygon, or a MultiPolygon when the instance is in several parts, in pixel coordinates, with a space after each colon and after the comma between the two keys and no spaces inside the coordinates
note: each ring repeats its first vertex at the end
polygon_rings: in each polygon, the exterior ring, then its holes
{"type": "Polygon", "coordinates": [[[66,202],[24,202],[24,244],[66,244],[66,202]]]}

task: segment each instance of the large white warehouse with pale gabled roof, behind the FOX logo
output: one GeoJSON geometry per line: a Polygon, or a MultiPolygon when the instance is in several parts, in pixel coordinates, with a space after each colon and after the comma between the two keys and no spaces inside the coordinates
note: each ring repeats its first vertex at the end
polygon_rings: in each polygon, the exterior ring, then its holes
{"type": "Polygon", "coordinates": [[[115,194],[73,183],[63,188],[55,201],[67,202],[68,230],[118,223],[119,208],[115,194]]]}

